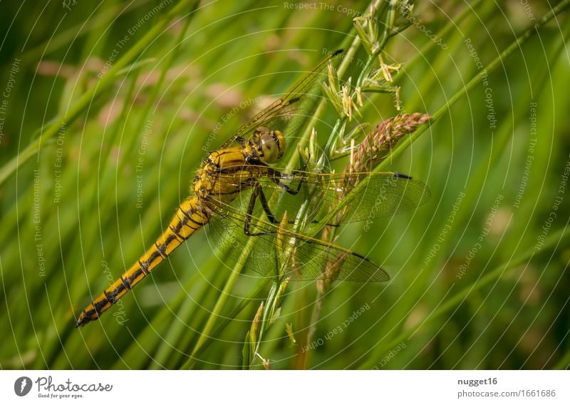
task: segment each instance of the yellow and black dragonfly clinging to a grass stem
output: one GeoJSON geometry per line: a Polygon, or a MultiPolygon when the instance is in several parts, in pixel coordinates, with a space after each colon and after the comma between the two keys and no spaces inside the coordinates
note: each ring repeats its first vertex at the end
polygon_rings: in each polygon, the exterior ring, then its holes
{"type": "MultiPolygon", "coordinates": [[[[430,191],[422,182],[399,173],[317,173],[274,167],[286,153],[286,139],[294,138],[320,101],[326,66],[333,53],[301,78],[291,90],[257,113],[229,140],[209,153],[197,170],[190,196],[182,202],[162,235],[128,270],[76,320],[80,327],[98,319],[152,270],[203,227],[229,257],[261,275],[271,277],[285,262],[290,280],[334,278],[355,282],[385,282],[389,275],[365,255],[331,242],[296,232],[299,212],[309,225],[326,218],[350,192],[348,183],[366,181],[363,191],[343,208],[342,221],[326,225],[388,217],[423,205],[430,191]],[[252,240],[254,238],[254,240],[252,240]],[[249,243],[252,242],[252,243],[249,243]],[[249,249],[249,254],[246,250],[249,249]],[[331,272],[331,270],[334,270],[331,272]]],[[[306,169],[306,168],[305,168],[306,169]]]]}

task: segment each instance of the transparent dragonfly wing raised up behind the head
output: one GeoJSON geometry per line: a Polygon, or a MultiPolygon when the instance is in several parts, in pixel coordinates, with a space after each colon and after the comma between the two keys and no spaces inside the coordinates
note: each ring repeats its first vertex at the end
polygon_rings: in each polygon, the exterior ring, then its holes
{"type": "Polygon", "coordinates": [[[220,148],[228,148],[238,143],[239,139],[247,138],[260,126],[280,130],[286,138],[296,134],[296,131],[303,125],[306,119],[313,115],[314,109],[320,100],[320,83],[326,80],[328,61],[331,61],[332,58],[340,53],[342,51],[336,51],[321,61],[313,71],[301,78],[289,90],[289,93],[264,108],[249,123],[242,125],[220,148]]]}

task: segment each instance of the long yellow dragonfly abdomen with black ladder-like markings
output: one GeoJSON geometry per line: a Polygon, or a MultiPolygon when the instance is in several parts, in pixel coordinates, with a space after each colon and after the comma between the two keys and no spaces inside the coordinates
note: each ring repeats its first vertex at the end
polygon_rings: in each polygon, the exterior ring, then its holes
{"type": "Polygon", "coordinates": [[[202,229],[209,220],[202,210],[202,204],[195,197],[188,198],[178,207],[168,227],[144,255],[140,257],[118,280],[105,289],[91,304],[83,310],[77,319],[77,326],[98,319],[115,302],[133,289],[142,279],[152,272],[174,250],[202,229]]]}

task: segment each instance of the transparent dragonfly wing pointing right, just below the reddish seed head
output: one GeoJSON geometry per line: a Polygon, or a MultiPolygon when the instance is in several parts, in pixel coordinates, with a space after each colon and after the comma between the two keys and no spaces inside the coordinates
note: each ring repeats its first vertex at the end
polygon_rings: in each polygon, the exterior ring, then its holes
{"type": "MultiPolygon", "coordinates": [[[[255,168],[257,166],[249,165],[249,170],[255,171],[255,168]]],[[[259,167],[258,171],[262,169],[266,170],[259,167]]],[[[231,176],[220,176],[218,181],[228,187],[239,187],[231,176]]],[[[328,221],[329,225],[388,217],[423,205],[430,199],[430,190],[424,183],[393,172],[351,173],[347,178],[343,173],[299,170],[283,173],[272,169],[269,175],[258,177],[256,181],[261,184],[269,200],[269,209],[277,220],[284,212],[294,218],[301,206],[306,205],[309,220],[318,222],[341,203],[356,182],[366,182],[366,185],[338,216],[328,221]],[[296,190],[299,192],[291,193],[296,190]]]]}

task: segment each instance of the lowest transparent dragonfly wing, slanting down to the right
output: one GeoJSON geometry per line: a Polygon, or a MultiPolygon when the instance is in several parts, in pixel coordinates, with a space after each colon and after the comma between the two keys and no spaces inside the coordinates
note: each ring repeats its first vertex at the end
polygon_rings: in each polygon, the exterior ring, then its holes
{"type": "MultiPolygon", "coordinates": [[[[244,196],[239,205],[247,203],[247,194],[240,194],[244,196]]],[[[257,215],[252,217],[250,232],[266,235],[245,235],[246,214],[241,207],[225,205],[217,200],[210,200],[208,205],[216,212],[207,228],[214,243],[228,251],[234,260],[241,261],[263,277],[271,277],[276,274],[276,269],[283,267],[287,269],[285,275],[294,281],[338,279],[383,282],[390,279],[388,273],[366,257],[291,230],[280,229],[266,220],[260,220],[257,215]],[[252,244],[251,250],[244,256],[248,243],[252,244]]]]}

